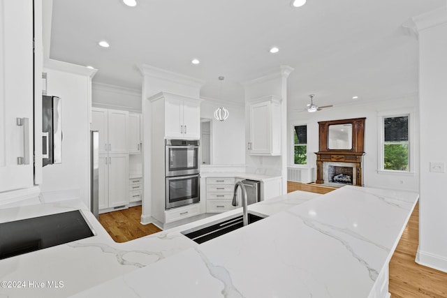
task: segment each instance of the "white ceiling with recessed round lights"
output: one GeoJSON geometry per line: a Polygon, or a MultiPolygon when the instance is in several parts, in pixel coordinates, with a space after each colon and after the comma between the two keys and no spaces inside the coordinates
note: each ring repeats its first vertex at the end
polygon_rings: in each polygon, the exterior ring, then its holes
{"type": "MultiPolygon", "coordinates": [[[[243,101],[240,82],[281,65],[289,108],[383,100],[418,90],[418,41],[402,27],[446,0],[54,0],[50,58],[141,88],[137,65],[205,81],[200,96],[243,101]],[[110,47],[98,46],[108,40],[110,47]],[[277,54],[268,50],[279,47],[277,54]],[[198,58],[199,65],[191,64],[198,58]]],[[[44,15],[45,16],[45,15],[44,15]]],[[[45,30],[45,28],[44,28],[45,30]]]]}

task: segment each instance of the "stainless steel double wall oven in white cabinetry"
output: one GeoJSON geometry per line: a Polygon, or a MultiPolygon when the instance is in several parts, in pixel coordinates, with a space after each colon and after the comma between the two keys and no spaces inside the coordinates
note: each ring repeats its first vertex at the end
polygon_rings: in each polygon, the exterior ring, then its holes
{"type": "Polygon", "coordinates": [[[200,201],[198,140],[165,140],[166,209],[200,201]]]}

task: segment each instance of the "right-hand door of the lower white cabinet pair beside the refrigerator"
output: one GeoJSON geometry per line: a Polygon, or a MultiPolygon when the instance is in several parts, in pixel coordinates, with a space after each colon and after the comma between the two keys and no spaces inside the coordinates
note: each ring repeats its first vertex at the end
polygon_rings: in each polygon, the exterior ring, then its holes
{"type": "Polygon", "coordinates": [[[129,155],[109,155],[109,207],[129,204],[129,155]]]}

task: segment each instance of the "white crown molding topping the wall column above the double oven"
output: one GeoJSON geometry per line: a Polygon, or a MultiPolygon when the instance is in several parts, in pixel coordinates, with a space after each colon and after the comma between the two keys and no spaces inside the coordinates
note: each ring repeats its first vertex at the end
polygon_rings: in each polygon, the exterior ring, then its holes
{"type": "Polygon", "coordinates": [[[203,84],[205,84],[205,81],[199,80],[196,77],[189,77],[188,75],[174,73],[172,71],[156,68],[147,64],[138,65],[138,69],[140,70],[143,77],[155,77],[159,80],[166,80],[168,82],[174,82],[198,89],[200,89],[203,84]]]}

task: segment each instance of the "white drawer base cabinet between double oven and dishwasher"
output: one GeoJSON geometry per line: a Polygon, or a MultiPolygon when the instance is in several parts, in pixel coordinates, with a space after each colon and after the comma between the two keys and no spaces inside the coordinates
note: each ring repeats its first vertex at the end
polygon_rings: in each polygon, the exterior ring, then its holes
{"type": "Polygon", "coordinates": [[[235,209],[231,204],[235,181],[235,178],[207,178],[207,213],[221,213],[235,209]]]}

